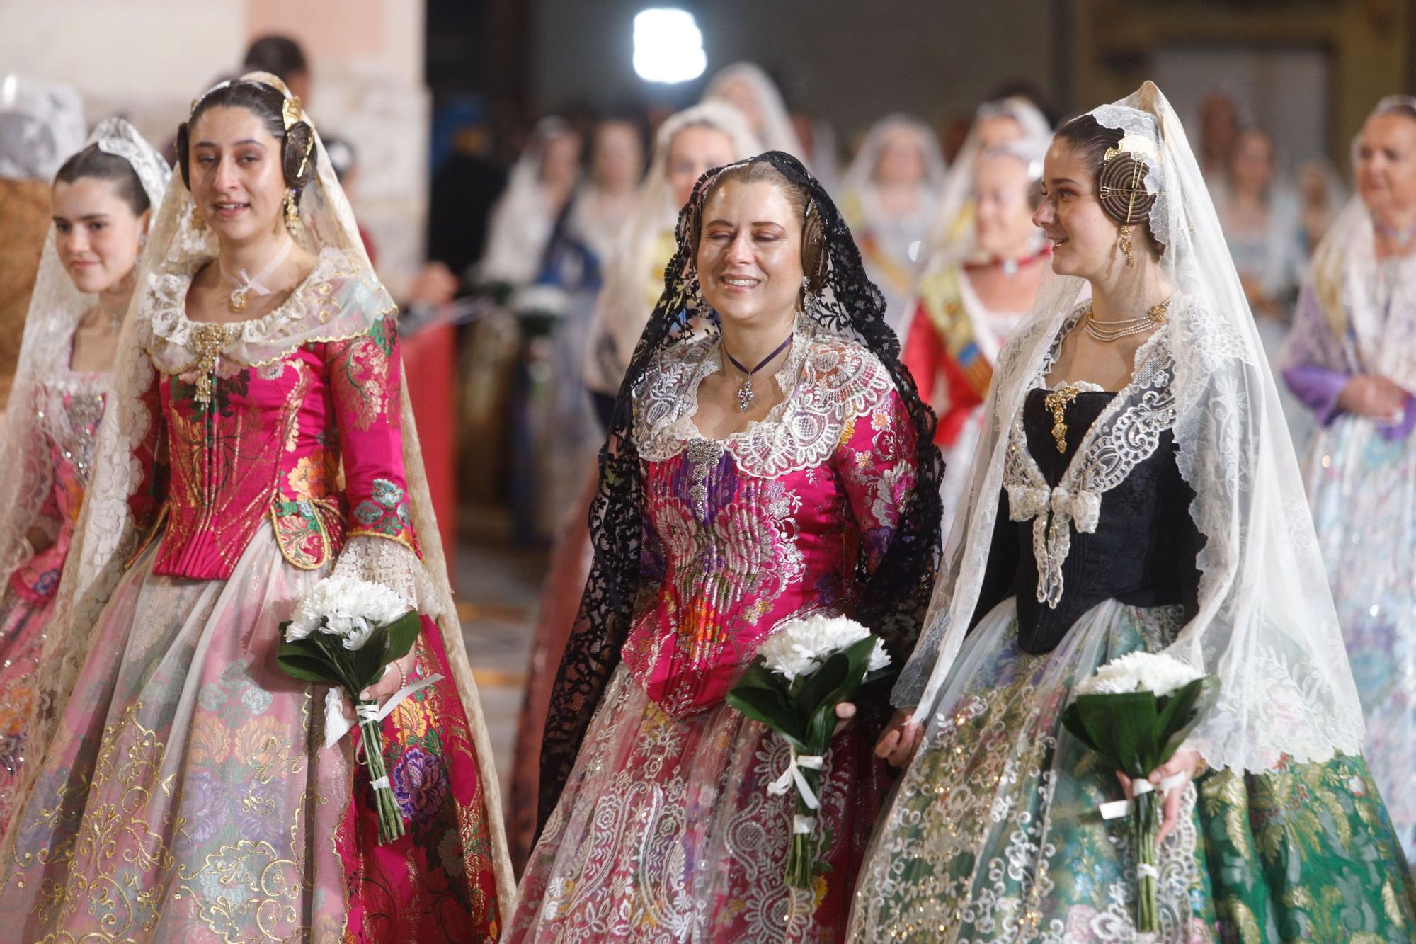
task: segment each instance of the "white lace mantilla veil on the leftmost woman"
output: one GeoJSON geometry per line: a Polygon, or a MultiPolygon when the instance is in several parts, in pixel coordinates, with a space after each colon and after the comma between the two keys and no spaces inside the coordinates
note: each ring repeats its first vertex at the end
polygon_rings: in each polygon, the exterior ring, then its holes
{"type": "MultiPolygon", "coordinates": [[[[98,145],[99,150],[132,164],[147,193],[147,203],[156,211],[167,187],[169,169],[137,129],[122,118],[106,118],[84,142],[85,147],[88,145],[98,145]]],[[[61,160],[68,157],[65,153],[61,160]]],[[[51,223],[24,319],[4,425],[0,427],[0,461],[7,463],[0,475],[0,578],[6,581],[34,553],[25,534],[40,520],[40,509],[54,483],[54,463],[44,445],[37,412],[41,401],[38,386],[68,370],[74,332],[96,300],[79,292],[64,271],[51,223]]]]}

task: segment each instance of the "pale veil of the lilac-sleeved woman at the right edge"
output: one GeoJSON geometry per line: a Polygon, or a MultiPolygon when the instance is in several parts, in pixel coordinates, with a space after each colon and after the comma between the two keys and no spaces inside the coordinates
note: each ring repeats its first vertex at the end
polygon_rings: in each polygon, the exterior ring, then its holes
{"type": "MultiPolygon", "coordinates": [[[[1388,95],[1372,109],[1371,118],[1396,108],[1416,109],[1410,95],[1388,95]]],[[[1352,139],[1352,166],[1361,133],[1352,139]]],[[[1406,271],[1416,266],[1416,257],[1393,262],[1406,271]]],[[[1386,318],[1388,305],[1378,296],[1375,278],[1376,231],[1372,214],[1361,194],[1348,198],[1332,220],[1313,254],[1310,279],[1325,318],[1297,318],[1284,343],[1280,363],[1290,367],[1294,352],[1308,359],[1323,356],[1323,367],[1344,373],[1375,373],[1409,393],[1416,393],[1416,325],[1409,318],[1386,318]]],[[[1416,299],[1416,279],[1386,279],[1386,289],[1398,293],[1391,310],[1410,310],[1416,299]]]]}

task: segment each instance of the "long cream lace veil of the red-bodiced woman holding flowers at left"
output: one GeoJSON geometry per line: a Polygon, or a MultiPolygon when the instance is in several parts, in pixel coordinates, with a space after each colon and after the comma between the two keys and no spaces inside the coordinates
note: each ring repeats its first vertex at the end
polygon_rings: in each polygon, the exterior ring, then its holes
{"type": "MultiPolygon", "coordinates": [[[[251,72],[242,79],[266,82],[289,96],[285,84],[266,72],[251,72]]],[[[303,111],[300,120],[310,123],[312,129],[314,128],[310,116],[303,111]]],[[[316,174],[300,197],[302,225],[297,240],[316,255],[327,254],[331,249],[341,252],[357,271],[368,274],[368,278],[372,279],[372,268],[354,224],[354,213],[344,190],[334,177],[334,169],[317,132],[314,135],[314,153],[316,174]]],[[[193,225],[191,208],[191,194],[187,191],[181,174],[171,174],[161,208],[150,230],[147,252],[139,271],[137,288],[133,292],[133,309],[129,310],[119,337],[118,354],[113,361],[113,388],[99,428],[92,481],[79,516],[68,564],[59,583],[54,628],[47,635],[44,655],[40,661],[41,678],[35,692],[37,717],[30,729],[35,760],[38,760],[40,748],[48,743],[52,724],[57,721],[84,665],[89,649],[89,636],[96,626],[99,614],[122,578],[127,557],[140,539],[129,512],[127,499],[142,481],[142,469],[137,459],[133,458],[133,446],[143,439],[149,424],[147,411],[139,401],[139,395],[149,386],[154,370],[142,346],[142,339],[152,336],[153,306],[150,299],[156,295],[153,289],[163,279],[190,272],[198,259],[217,255],[215,237],[210,230],[193,225]]],[[[263,337],[263,333],[269,330],[269,326],[263,325],[268,319],[242,322],[241,335],[228,350],[239,353],[246,363],[259,363],[307,342],[347,337],[351,329],[357,332],[361,325],[367,329],[378,313],[351,312],[347,316],[341,316],[341,313],[327,325],[313,330],[286,332],[270,339],[263,337]]],[[[413,527],[419,534],[425,566],[418,568],[419,573],[408,574],[404,561],[381,554],[378,547],[389,544],[402,550],[402,546],[381,539],[364,539],[362,541],[354,539],[341,551],[336,567],[343,570],[353,564],[361,571],[360,575],[381,583],[392,580],[405,597],[415,595],[419,611],[435,617],[442,629],[447,663],[462,695],[477,751],[493,843],[493,863],[497,872],[498,906],[503,914],[508,914],[514,883],[501,825],[501,791],[491,760],[491,743],[481,716],[477,685],[472,678],[462,626],[457,622],[457,609],[452,600],[447,563],[438,537],[438,522],[433,516],[428,476],[423,471],[422,448],[418,442],[418,429],[408,397],[406,376],[402,381],[401,404],[404,465],[413,527]],[[354,554],[351,556],[350,551],[354,554]]],[[[412,558],[411,554],[408,557],[412,558]]],[[[25,764],[27,781],[41,767],[38,763],[25,764]]],[[[23,798],[28,788],[30,782],[21,782],[18,795],[23,798]]],[[[23,808],[23,802],[16,804],[17,811],[23,808]]],[[[11,835],[16,832],[10,831],[11,835]]]]}

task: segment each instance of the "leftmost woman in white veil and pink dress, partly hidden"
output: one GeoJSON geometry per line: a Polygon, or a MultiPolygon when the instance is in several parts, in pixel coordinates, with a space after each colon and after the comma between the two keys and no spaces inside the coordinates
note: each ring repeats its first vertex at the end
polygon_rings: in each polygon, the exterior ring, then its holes
{"type": "Polygon", "coordinates": [[[167,164],[109,118],[54,181],[54,221],[0,432],[0,839],[28,754],[45,628],[93,458],[133,275],[167,164]]]}

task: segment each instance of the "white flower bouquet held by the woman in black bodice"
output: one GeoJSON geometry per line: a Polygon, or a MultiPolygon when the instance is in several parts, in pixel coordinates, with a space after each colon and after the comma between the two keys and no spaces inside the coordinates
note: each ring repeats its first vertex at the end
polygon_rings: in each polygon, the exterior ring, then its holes
{"type": "MultiPolygon", "coordinates": [[[[1134,802],[1104,804],[1102,815],[1133,816],[1136,829],[1136,930],[1160,930],[1155,901],[1155,836],[1160,805],[1147,777],[1180,750],[1219,695],[1219,680],[1174,656],[1131,652],[1107,662],[1079,683],[1062,724],[1102,758],[1131,778],[1134,802]]],[[[1182,777],[1180,778],[1182,780],[1182,777]]],[[[1161,782],[1161,792],[1180,784],[1161,782]]]]}

